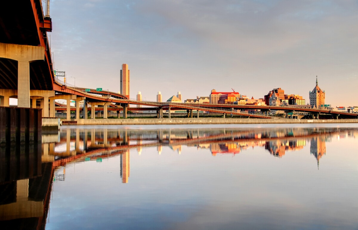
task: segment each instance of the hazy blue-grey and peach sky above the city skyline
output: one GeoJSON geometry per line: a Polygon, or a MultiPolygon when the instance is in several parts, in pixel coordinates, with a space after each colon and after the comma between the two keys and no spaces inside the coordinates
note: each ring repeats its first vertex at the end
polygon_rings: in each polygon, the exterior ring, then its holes
{"type": "Polygon", "coordinates": [[[127,63],[131,98],[281,87],[309,102],[318,76],[326,104],[358,106],[357,12],[357,0],[51,0],[49,34],[54,68],[79,87],[117,92],[127,63]]]}

